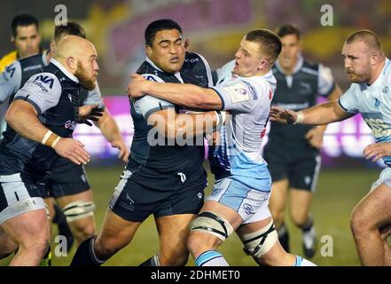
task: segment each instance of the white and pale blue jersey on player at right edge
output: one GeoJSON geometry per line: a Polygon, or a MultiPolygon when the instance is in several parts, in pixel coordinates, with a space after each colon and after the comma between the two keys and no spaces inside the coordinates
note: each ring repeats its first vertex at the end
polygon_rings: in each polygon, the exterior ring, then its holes
{"type": "MultiPolygon", "coordinates": [[[[362,114],[376,142],[391,142],[391,61],[386,59],[379,78],[368,86],[352,83],[340,97],[340,106],[352,114],[362,114]]],[[[383,158],[391,167],[391,156],[383,158]]]]}

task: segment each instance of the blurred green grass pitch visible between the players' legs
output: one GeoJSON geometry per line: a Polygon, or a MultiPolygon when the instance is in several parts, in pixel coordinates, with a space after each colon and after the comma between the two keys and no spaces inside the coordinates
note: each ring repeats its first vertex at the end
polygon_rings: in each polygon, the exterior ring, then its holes
{"type": "MultiPolygon", "coordinates": [[[[102,224],[107,202],[113,194],[123,167],[106,166],[87,169],[90,185],[97,204],[96,221],[102,224]]],[[[322,170],[318,179],[317,191],[313,198],[312,213],[317,228],[317,254],[311,260],[318,265],[359,265],[356,248],[349,229],[350,212],[356,203],[369,192],[371,184],[379,177],[378,170],[322,170]],[[322,253],[323,252],[323,253],[322,253]]],[[[209,193],[213,185],[209,175],[209,193]]],[[[294,227],[286,215],[286,225],[290,230],[291,249],[298,255],[301,248],[301,230],[294,227]]],[[[57,234],[57,228],[53,233],[57,234]]],[[[52,242],[54,248],[56,243],[52,242]]],[[[127,248],[113,256],[106,265],[138,265],[158,251],[158,236],[152,217],[149,217],[137,231],[127,248]]],[[[74,255],[74,248],[68,256],[53,256],[53,265],[68,265],[74,255]]],[[[255,265],[254,260],[242,251],[239,238],[233,234],[225,241],[220,251],[231,265],[255,265]]],[[[0,261],[7,264],[10,258],[0,261]]],[[[190,257],[188,265],[193,265],[190,257]]]]}

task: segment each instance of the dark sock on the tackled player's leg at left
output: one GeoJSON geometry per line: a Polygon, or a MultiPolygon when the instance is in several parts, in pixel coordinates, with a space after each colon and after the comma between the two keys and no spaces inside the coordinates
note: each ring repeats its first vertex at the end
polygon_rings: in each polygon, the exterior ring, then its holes
{"type": "Polygon", "coordinates": [[[94,252],[95,236],[83,241],[77,248],[70,266],[100,266],[105,261],[98,259],[94,252]]]}

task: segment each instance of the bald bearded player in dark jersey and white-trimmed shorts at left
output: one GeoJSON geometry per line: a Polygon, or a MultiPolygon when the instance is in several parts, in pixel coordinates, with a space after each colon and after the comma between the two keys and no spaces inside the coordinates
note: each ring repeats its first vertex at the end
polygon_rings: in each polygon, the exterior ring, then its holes
{"type": "Polygon", "coordinates": [[[97,105],[78,107],[80,87],[95,88],[97,51],[79,36],[66,36],[54,59],[15,94],[0,143],[0,258],[19,248],[11,265],[37,265],[50,230],[37,181],[59,156],[86,164],[90,154],[72,138],[76,121],[96,119],[97,105]],[[66,123],[71,122],[71,123],[66,123]]]}

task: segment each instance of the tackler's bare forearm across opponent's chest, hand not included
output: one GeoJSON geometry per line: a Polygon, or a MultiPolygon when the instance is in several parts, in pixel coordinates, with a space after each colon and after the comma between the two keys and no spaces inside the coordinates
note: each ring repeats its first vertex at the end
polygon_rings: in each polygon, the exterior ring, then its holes
{"type": "Polygon", "coordinates": [[[144,91],[153,97],[168,100],[179,106],[199,109],[221,109],[223,106],[214,90],[192,84],[148,82],[145,84],[144,91]]]}

